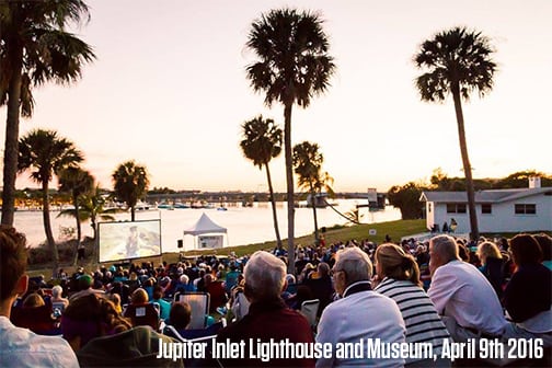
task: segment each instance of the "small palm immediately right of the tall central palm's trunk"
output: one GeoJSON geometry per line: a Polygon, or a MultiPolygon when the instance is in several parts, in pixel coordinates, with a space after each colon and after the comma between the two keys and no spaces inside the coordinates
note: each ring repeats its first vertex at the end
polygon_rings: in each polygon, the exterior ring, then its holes
{"type": "Polygon", "coordinates": [[[294,168],[298,175],[297,182],[299,187],[309,192],[310,205],[312,207],[312,217],[314,219],[314,240],[319,244],[318,218],[317,218],[317,197],[326,189],[331,193],[331,182],[333,179],[327,172],[322,173],[322,163],[324,157],[319,150],[317,143],[303,141],[294,147],[294,168]]]}

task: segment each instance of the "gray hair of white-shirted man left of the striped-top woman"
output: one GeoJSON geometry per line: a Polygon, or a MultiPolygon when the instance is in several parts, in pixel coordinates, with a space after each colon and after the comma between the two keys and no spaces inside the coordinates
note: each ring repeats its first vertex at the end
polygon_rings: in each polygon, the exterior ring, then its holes
{"type": "Polygon", "coordinates": [[[372,275],[370,257],[358,246],[341,250],[336,256],[334,268],[345,272],[347,286],[356,281],[370,280],[372,275]]]}

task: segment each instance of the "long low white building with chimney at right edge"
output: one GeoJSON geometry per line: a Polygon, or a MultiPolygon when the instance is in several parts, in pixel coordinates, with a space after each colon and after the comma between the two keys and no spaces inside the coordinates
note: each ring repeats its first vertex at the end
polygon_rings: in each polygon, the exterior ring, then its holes
{"type": "MultiPolygon", "coordinates": [[[[456,232],[470,232],[465,192],[423,192],[426,223],[440,229],[451,220],[456,232]]],[[[552,231],[552,187],[540,187],[540,177],[530,179],[528,188],[475,192],[480,232],[552,231]]]]}

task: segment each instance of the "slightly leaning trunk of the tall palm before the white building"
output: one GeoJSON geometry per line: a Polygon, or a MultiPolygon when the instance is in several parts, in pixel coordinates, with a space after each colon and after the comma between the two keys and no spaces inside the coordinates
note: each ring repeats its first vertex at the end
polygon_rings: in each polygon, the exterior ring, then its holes
{"type": "Polygon", "coordinates": [[[460,100],[460,88],[458,83],[452,85],[452,99],[455,100],[455,111],[458,123],[458,138],[460,140],[460,152],[462,154],[462,164],[465,174],[465,191],[468,193],[468,210],[470,211],[470,239],[479,239],[478,214],[475,212],[475,192],[473,188],[473,179],[471,172],[470,158],[468,157],[468,145],[465,142],[465,130],[462,113],[462,102],[460,100]]]}

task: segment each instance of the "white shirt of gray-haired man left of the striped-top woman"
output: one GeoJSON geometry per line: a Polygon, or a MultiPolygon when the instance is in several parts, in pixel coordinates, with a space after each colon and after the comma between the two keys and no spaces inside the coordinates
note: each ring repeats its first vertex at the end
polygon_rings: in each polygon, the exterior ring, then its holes
{"type": "MultiPolygon", "coordinates": [[[[352,286],[358,285],[355,283],[352,286]]],[[[337,343],[364,342],[364,356],[368,356],[367,341],[380,338],[382,343],[404,343],[404,321],[393,299],[376,291],[366,290],[348,295],[330,303],[320,318],[317,343],[333,345],[332,358],[320,358],[317,367],[361,366],[402,367],[404,359],[338,359],[337,343]]]]}

